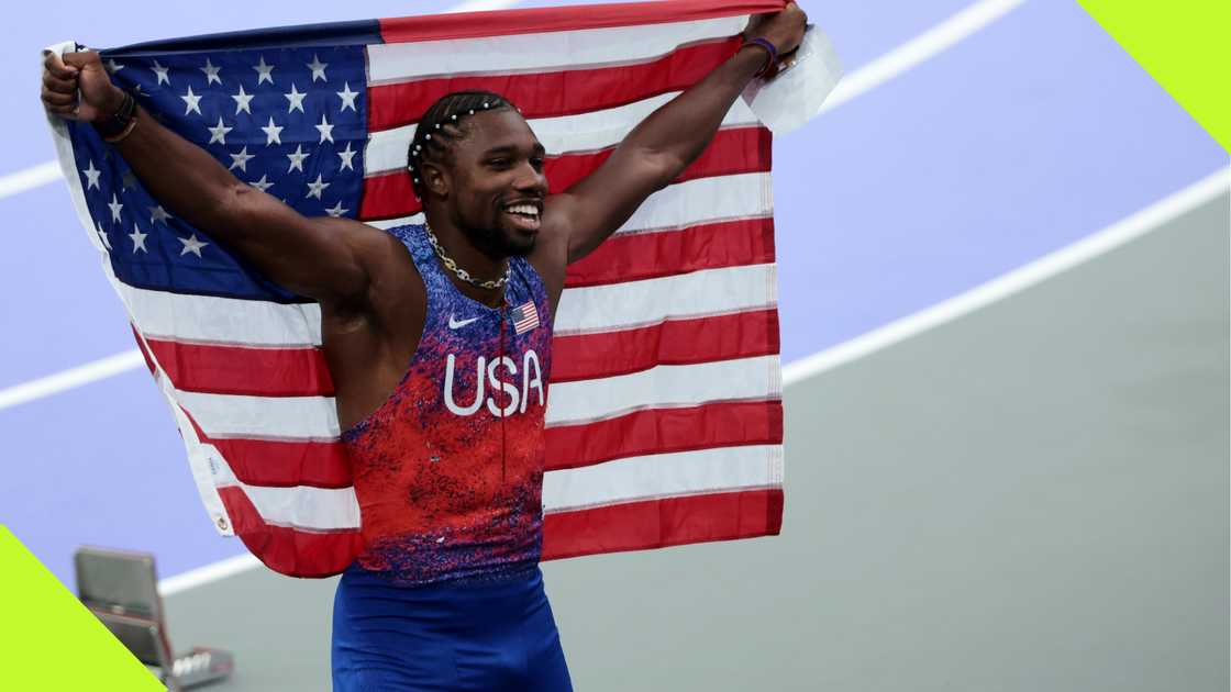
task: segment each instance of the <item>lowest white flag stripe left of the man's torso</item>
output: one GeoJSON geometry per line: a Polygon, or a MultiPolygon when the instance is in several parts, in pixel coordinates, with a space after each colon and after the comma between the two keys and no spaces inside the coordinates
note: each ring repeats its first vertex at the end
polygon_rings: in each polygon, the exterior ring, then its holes
{"type": "Polygon", "coordinates": [[[307,531],[340,531],[359,527],[359,502],[353,488],[294,489],[243,485],[247,499],[266,523],[307,531]]]}

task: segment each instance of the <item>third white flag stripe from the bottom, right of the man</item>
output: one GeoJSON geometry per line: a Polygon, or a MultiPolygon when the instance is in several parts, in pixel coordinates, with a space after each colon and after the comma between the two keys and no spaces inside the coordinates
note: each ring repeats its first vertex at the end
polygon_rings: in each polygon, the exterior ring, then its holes
{"type": "Polygon", "coordinates": [[[771,308],[777,303],[774,265],[747,265],[570,288],[555,315],[559,335],[595,334],[686,319],[771,308]]]}

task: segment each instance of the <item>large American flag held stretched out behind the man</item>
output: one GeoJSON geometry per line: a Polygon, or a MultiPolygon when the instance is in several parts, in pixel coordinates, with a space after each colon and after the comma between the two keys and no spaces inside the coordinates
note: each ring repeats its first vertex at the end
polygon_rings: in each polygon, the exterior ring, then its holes
{"type": "MultiPolygon", "coordinates": [[[[782,0],[357,21],[105,50],[112,79],[304,214],[422,219],[415,123],[506,95],[551,191],[599,165],[782,0]]],[[[270,568],[359,548],[320,309],[170,214],[89,126],[53,121],[79,217],[171,405],[206,509],[270,568]]],[[[556,309],[544,559],[774,534],[783,507],[771,133],[737,101],[705,153],[586,260],[556,309]]],[[[518,330],[531,329],[531,308],[518,330]]]]}

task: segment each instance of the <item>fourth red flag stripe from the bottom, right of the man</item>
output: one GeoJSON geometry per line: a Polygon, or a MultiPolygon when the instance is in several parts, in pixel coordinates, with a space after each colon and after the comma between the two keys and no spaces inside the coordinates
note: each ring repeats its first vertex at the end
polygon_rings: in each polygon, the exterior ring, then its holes
{"type": "Polygon", "coordinates": [[[569,265],[564,286],[623,283],[772,261],[773,219],[739,219],[683,230],[614,235],[583,260],[569,265]]]}

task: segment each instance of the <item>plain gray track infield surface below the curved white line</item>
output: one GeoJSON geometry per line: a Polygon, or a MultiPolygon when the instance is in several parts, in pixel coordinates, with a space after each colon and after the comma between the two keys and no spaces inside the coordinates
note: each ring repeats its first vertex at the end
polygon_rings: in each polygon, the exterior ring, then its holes
{"type": "MultiPolygon", "coordinates": [[[[1229,227],[789,388],[780,537],[544,565],[576,688],[1225,692],[1229,227]]],[[[235,651],[213,690],[329,690],[334,584],[209,584],[171,635],[235,651]]]]}

